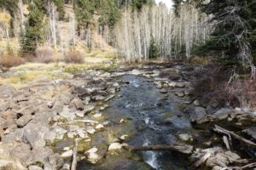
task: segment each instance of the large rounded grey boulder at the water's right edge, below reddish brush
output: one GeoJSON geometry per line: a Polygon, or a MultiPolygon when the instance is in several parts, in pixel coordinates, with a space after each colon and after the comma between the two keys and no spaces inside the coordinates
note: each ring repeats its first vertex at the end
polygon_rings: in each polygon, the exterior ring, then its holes
{"type": "Polygon", "coordinates": [[[194,111],[191,111],[190,113],[190,121],[196,122],[196,123],[203,123],[207,122],[207,112],[202,107],[195,107],[194,111]]]}

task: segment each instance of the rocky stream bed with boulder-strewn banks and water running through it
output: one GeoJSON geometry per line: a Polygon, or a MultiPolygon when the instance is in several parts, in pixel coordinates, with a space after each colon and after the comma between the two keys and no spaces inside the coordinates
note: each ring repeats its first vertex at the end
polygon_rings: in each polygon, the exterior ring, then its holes
{"type": "Polygon", "coordinates": [[[202,69],[142,65],[2,85],[0,170],[69,170],[74,141],[76,169],[253,169],[256,112],[194,99],[202,69]],[[191,150],[129,149],[156,144],[191,150]]]}

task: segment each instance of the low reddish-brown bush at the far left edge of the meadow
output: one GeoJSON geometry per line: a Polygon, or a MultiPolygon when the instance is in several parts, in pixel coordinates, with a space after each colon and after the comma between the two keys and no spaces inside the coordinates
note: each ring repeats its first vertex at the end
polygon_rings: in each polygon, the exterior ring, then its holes
{"type": "Polygon", "coordinates": [[[25,63],[24,59],[20,57],[15,57],[14,55],[3,54],[0,55],[0,65],[4,67],[12,67],[17,65],[22,65],[25,63]]]}

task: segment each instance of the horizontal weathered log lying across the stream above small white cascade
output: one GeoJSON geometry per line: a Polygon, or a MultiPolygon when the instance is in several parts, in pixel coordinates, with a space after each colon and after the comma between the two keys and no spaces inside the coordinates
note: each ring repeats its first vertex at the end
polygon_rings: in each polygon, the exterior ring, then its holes
{"type": "Polygon", "coordinates": [[[193,146],[189,144],[172,144],[172,145],[152,145],[152,146],[126,146],[128,150],[172,150],[186,155],[190,155],[193,152],[193,146]]]}

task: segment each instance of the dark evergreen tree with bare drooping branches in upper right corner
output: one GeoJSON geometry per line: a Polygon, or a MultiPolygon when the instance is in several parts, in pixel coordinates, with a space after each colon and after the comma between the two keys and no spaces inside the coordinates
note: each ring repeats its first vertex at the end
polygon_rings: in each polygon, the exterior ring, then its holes
{"type": "MultiPolygon", "coordinates": [[[[205,47],[223,53],[229,60],[251,65],[255,54],[256,0],[197,1],[206,14],[212,15],[212,39],[205,47]]],[[[253,70],[252,70],[253,71],[253,70]]]]}

